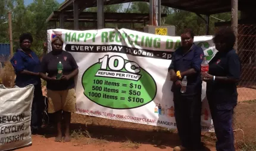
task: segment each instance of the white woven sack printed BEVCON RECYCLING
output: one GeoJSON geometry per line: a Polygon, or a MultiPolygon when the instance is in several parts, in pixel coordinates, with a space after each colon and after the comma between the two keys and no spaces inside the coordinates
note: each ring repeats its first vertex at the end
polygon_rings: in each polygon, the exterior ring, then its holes
{"type": "Polygon", "coordinates": [[[0,85],[0,150],[32,144],[30,120],[34,86],[8,89],[0,85]]]}

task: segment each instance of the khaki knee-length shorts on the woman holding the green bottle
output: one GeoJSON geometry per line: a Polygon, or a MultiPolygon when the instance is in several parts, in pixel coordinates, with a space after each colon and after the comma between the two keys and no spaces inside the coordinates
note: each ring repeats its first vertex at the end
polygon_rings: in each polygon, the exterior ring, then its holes
{"type": "Polygon", "coordinates": [[[48,113],[55,113],[63,110],[74,113],[76,111],[76,91],[67,89],[63,91],[47,90],[48,96],[48,113]]]}

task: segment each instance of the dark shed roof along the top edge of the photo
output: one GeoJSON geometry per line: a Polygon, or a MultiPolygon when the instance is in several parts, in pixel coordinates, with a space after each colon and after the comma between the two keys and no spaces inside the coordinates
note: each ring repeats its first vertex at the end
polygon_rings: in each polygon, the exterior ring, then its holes
{"type": "MultiPolygon", "coordinates": [[[[58,11],[73,10],[73,1],[65,1],[58,11]]],[[[96,7],[96,0],[76,0],[79,3],[79,9],[96,7]]],[[[126,2],[149,2],[149,0],[105,0],[104,5],[122,4],[126,2]]],[[[185,11],[195,12],[196,14],[218,14],[221,12],[229,12],[231,10],[231,0],[161,0],[161,5],[171,8],[182,9],[185,11]]],[[[239,0],[238,9],[254,10],[255,0],[239,0]]]]}

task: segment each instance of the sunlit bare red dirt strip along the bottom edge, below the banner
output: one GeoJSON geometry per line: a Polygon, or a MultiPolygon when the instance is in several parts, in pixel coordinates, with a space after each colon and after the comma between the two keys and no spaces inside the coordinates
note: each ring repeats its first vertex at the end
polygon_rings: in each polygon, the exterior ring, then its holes
{"type": "MultiPolygon", "coordinates": [[[[69,150],[90,150],[90,151],[119,151],[119,150],[147,150],[147,151],[171,151],[170,146],[155,146],[152,144],[133,144],[130,142],[118,143],[118,142],[93,142],[92,144],[76,143],[74,140],[71,143],[57,143],[54,142],[54,137],[46,139],[42,136],[33,136],[33,145],[18,149],[19,151],[69,151],[69,150]]],[[[214,147],[210,147],[211,151],[215,150],[214,147]]]]}

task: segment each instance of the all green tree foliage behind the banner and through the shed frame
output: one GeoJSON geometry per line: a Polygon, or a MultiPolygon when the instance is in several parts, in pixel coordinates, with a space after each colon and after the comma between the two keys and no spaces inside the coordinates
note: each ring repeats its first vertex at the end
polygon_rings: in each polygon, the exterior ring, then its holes
{"type": "MultiPolygon", "coordinates": [[[[0,43],[8,43],[8,11],[12,12],[13,21],[13,40],[14,50],[19,47],[18,37],[23,32],[30,32],[33,35],[34,42],[32,49],[40,56],[43,52],[43,42],[46,40],[46,31],[48,28],[54,28],[54,24],[45,23],[46,18],[57,10],[60,4],[56,0],[34,0],[32,4],[25,6],[24,0],[2,0],[0,3],[0,43]]],[[[88,8],[85,11],[96,12],[95,8],[88,8]]],[[[129,8],[123,8],[122,4],[107,5],[104,12],[127,12],[127,13],[149,13],[149,4],[147,2],[132,2],[129,8]]],[[[205,34],[205,21],[192,12],[180,11],[179,9],[161,7],[161,13],[167,14],[162,18],[162,25],[174,25],[176,35],[179,35],[183,28],[189,27],[195,31],[196,35],[205,34]]],[[[204,16],[203,16],[204,17],[204,16]]],[[[210,17],[210,34],[214,34],[214,23],[220,18],[224,21],[230,20],[230,13],[216,14],[210,17]],[[213,18],[215,17],[215,18],[213,18]]],[[[81,30],[96,28],[93,23],[79,23],[81,30]]],[[[132,23],[106,23],[106,28],[131,28],[132,23]]],[[[143,24],[134,24],[136,30],[142,30],[143,24]]],[[[73,23],[65,23],[65,28],[72,29],[73,23]]]]}

